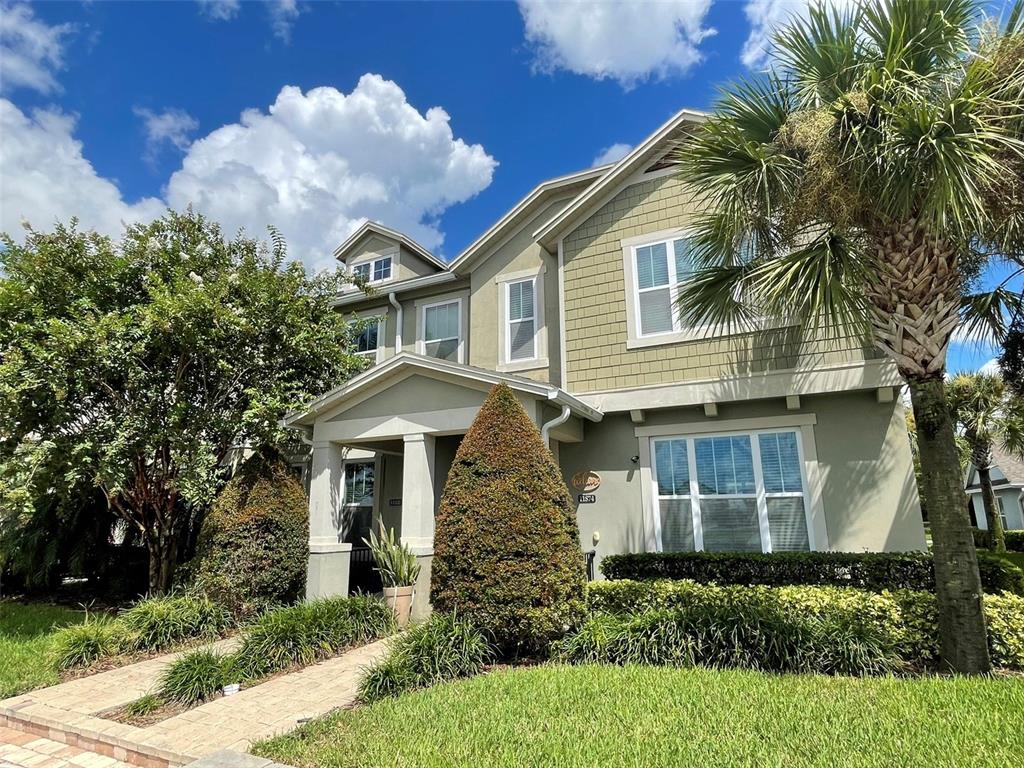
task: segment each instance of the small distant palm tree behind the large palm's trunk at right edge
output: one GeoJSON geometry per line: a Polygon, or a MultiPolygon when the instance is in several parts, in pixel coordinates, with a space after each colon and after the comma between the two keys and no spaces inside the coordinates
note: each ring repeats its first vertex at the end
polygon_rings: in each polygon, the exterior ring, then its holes
{"type": "Polygon", "coordinates": [[[1000,445],[1024,458],[1024,399],[1008,392],[1002,377],[982,373],[954,376],[946,384],[946,397],[953,424],[978,470],[992,549],[1006,552],[1002,520],[992,490],[992,447],[1000,445]]]}

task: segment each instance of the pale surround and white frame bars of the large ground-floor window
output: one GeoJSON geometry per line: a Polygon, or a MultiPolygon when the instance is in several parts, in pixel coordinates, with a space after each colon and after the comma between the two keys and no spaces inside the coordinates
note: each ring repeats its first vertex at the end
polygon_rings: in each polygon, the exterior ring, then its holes
{"type": "Polygon", "coordinates": [[[804,515],[807,525],[807,542],[810,551],[826,551],[828,549],[828,535],[825,526],[824,508],[821,503],[821,478],[817,463],[817,447],[814,443],[813,420],[770,417],[766,419],[737,419],[732,422],[724,422],[715,425],[716,427],[729,427],[727,429],[701,429],[703,424],[680,424],[675,427],[658,428],[658,433],[647,433],[649,429],[635,430],[640,437],[640,487],[641,507],[644,515],[644,527],[647,531],[647,549],[651,552],[660,552],[662,524],[659,515],[659,499],[657,488],[657,468],[652,461],[654,454],[654,442],[656,440],[669,440],[679,438],[686,440],[687,463],[690,478],[689,495],[673,497],[686,499],[690,503],[690,512],[693,525],[693,548],[695,551],[703,550],[703,526],[700,511],[699,486],[697,484],[696,451],[694,440],[699,437],[711,436],[748,436],[751,441],[751,461],[754,465],[754,486],[755,493],[722,495],[720,498],[743,498],[755,499],[758,511],[758,528],[761,536],[762,552],[773,551],[771,544],[771,529],[768,521],[768,499],[800,497],[804,502],[804,515]],[[796,423],[796,422],[800,423],[796,423]],[[768,494],[764,485],[764,468],[761,466],[761,443],[760,435],[773,434],[777,432],[790,432],[797,436],[797,452],[801,469],[801,492],[773,493],[768,494]]]}

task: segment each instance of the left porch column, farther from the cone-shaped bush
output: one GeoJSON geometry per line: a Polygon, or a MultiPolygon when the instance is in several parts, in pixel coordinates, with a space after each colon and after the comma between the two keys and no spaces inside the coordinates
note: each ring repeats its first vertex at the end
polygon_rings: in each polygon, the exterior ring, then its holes
{"type": "Polygon", "coordinates": [[[314,442],[309,478],[309,569],[306,598],[348,594],[351,544],[342,538],[345,449],[314,442]]]}

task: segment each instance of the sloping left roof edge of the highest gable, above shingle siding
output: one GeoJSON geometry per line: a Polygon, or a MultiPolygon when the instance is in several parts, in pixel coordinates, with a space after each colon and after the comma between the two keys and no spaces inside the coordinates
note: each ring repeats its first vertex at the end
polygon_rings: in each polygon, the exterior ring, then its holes
{"type": "Polygon", "coordinates": [[[702,122],[706,113],[680,110],[660,128],[645,138],[625,158],[615,163],[601,178],[588,186],[544,226],[534,232],[534,240],[553,248],[558,240],[583,217],[604,205],[630,176],[642,171],[664,152],[664,143],[686,123],[702,122]]]}

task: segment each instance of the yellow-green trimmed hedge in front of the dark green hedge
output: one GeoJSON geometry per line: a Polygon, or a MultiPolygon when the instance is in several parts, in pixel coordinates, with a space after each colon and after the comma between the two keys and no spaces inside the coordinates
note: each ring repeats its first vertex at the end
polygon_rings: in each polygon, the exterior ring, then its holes
{"type": "MultiPolygon", "coordinates": [[[[737,587],[691,581],[595,582],[588,588],[594,615],[632,615],[658,610],[725,606],[737,614],[762,610],[826,626],[860,628],[883,642],[881,658],[895,654],[908,668],[931,668],[939,658],[938,608],[927,592],[871,592],[841,587],[737,587]]],[[[992,664],[1024,669],[1024,598],[985,596],[992,664]]],[[[848,637],[838,635],[843,642],[848,637]]]]}

